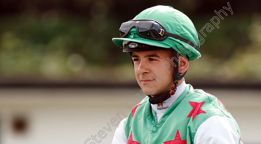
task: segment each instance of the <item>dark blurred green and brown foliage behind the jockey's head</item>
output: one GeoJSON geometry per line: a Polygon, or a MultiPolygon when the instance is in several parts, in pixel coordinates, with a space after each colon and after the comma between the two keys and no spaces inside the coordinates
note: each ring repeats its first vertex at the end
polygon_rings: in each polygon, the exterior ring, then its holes
{"type": "MultiPolygon", "coordinates": [[[[261,87],[261,1],[245,0],[2,0],[0,86],[138,86],[128,53],[113,42],[122,22],[142,10],[169,5],[196,30],[227,12],[205,32],[202,57],[190,63],[188,83],[261,87]],[[233,15],[222,7],[229,2],[233,15]]],[[[211,23],[212,24],[212,23],[211,23]]]]}

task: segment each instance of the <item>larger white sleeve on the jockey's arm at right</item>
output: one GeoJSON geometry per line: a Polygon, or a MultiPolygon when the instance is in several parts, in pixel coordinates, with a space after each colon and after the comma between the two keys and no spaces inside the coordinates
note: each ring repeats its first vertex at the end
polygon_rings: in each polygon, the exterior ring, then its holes
{"type": "Polygon", "coordinates": [[[214,115],[198,128],[194,144],[238,144],[240,135],[234,121],[225,116],[214,115]]]}

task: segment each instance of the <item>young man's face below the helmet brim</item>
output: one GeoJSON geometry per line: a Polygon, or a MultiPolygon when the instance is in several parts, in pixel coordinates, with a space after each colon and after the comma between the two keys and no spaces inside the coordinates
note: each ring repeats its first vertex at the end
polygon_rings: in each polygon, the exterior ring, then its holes
{"type": "Polygon", "coordinates": [[[171,90],[173,86],[173,65],[167,72],[162,66],[171,59],[172,50],[157,50],[133,52],[131,58],[134,62],[135,77],[146,95],[158,96],[171,90]]]}

